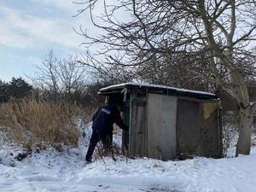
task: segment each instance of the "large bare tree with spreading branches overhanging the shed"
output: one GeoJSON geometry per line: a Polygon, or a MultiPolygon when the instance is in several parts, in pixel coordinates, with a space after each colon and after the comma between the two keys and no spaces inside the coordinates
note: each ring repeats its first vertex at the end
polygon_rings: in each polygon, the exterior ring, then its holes
{"type": "Polygon", "coordinates": [[[240,109],[236,155],[250,153],[256,102],[250,101],[244,74],[253,65],[255,72],[255,54],[247,48],[256,40],[255,1],[117,0],[110,4],[105,0],[89,0],[79,14],[87,10],[102,35],[90,36],[82,27],[79,33],[88,47],[102,44],[96,54],[105,55],[105,64],[110,66],[137,68],[153,57],[173,53],[198,55],[197,59],[203,55],[207,80],[216,82],[236,98],[240,109]],[[101,20],[98,17],[96,20],[100,3],[104,4],[104,13],[101,20]],[[125,14],[124,20],[119,13],[125,14]],[[245,58],[251,59],[245,61],[245,58]]]}

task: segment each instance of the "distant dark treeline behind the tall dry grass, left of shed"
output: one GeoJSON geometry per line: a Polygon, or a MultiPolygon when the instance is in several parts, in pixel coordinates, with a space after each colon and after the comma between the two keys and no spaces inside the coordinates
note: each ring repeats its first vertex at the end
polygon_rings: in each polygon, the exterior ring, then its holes
{"type": "Polygon", "coordinates": [[[98,96],[97,92],[110,83],[95,82],[91,84],[80,84],[78,90],[55,91],[40,89],[29,84],[25,79],[12,78],[9,82],[0,79],[0,102],[10,102],[21,98],[33,96],[41,101],[77,103],[86,108],[97,108],[102,105],[104,98],[98,96]],[[82,89],[83,88],[83,89],[82,89]]]}

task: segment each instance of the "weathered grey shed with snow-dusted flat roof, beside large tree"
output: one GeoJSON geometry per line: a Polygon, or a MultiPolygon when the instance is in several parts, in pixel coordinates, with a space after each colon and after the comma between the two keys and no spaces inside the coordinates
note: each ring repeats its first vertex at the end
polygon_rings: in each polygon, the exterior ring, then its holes
{"type": "Polygon", "coordinates": [[[125,83],[99,91],[108,104],[124,102],[123,152],[161,160],[222,156],[218,98],[158,84],[125,83]]]}

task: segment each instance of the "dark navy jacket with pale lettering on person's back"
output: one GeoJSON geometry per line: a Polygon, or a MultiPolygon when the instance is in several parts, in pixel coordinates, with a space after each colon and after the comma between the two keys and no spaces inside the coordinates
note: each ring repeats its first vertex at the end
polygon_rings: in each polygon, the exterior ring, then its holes
{"type": "Polygon", "coordinates": [[[113,124],[119,125],[119,127],[125,131],[128,131],[128,126],[123,123],[120,113],[116,105],[108,105],[103,108],[99,108],[93,115],[93,124],[91,128],[97,131],[103,131],[109,133],[113,131],[113,124]]]}

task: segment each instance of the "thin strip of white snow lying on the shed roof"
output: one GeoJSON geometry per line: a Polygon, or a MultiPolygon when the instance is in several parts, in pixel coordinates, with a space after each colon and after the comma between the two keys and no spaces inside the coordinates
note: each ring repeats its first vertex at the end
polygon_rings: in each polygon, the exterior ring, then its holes
{"type": "Polygon", "coordinates": [[[165,85],[160,85],[160,84],[146,84],[146,83],[134,83],[134,82],[129,82],[125,84],[114,84],[105,88],[102,88],[100,90],[112,90],[112,89],[118,89],[118,88],[125,88],[125,85],[134,85],[134,86],[139,86],[139,87],[153,87],[153,88],[160,88],[160,89],[169,89],[169,90],[177,90],[181,92],[189,92],[189,93],[195,93],[195,94],[202,94],[202,95],[208,95],[208,96],[215,96],[215,94],[206,92],[206,91],[200,91],[200,90],[186,90],[186,89],[179,89],[176,87],[170,87],[170,86],[165,86],[165,85]]]}

